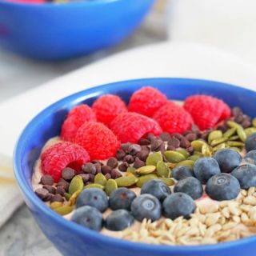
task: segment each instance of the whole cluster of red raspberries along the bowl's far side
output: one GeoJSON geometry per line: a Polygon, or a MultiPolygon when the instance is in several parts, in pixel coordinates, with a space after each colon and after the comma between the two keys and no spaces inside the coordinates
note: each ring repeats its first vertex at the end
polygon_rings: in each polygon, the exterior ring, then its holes
{"type": "Polygon", "coordinates": [[[206,130],[229,116],[225,102],[206,95],[191,96],[178,106],[159,90],[146,86],[132,94],[127,107],[117,95],[106,94],[92,107],[82,104],[70,110],[62,124],[63,142],[42,153],[42,171],[58,182],[64,167],[79,170],[90,160],[110,158],[121,142],[136,143],[146,134],[162,131],[182,134],[193,123],[206,130]]]}

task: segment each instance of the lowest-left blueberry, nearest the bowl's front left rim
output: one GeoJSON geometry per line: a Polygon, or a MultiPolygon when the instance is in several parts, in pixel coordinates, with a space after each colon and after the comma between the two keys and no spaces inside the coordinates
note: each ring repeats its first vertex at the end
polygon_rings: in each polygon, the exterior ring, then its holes
{"type": "Polygon", "coordinates": [[[98,209],[91,206],[82,206],[75,210],[71,217],[71,221],[85,226],[90,230],[102,230],[102,213],[98,209]]]}

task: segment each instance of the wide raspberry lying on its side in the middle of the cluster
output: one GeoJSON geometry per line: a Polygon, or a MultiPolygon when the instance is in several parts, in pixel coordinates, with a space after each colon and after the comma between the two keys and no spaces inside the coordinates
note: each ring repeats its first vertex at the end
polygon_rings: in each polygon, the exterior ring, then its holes
{"type": "Polygon", "coordinates": [[[136,143],[146,134],[159,135],[162,133],[162,129],[157,122],[145,115],[134,112],[118,114],[111,122],[110,129],[123,143],[136,143]]]}

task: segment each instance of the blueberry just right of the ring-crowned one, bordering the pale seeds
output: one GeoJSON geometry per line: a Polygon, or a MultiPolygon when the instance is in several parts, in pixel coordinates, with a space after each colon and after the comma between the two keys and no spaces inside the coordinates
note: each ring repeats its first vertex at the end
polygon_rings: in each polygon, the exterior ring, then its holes
{"type": "Polygon", "coordinates": [[[194,213],[195,203],[188,194],[178,192],[168,195],[162,203],[162,208],[166,218],[190,218],[190,214],[194,213]]]}

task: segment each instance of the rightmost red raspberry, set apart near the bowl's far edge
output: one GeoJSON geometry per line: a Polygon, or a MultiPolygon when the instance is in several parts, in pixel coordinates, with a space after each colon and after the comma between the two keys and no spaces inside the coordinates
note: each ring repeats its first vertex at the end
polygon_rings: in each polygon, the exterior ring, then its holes
{"type": "Polygon", "coordinates": [[[216,123],[228,114],[226,106],[221,100],[207,95],[193,95],[186,98],[184,108],[194,118],[200,130],[214,128],[216,123]],[[224,110],[224,112],[223,112],[224,110]]]}

